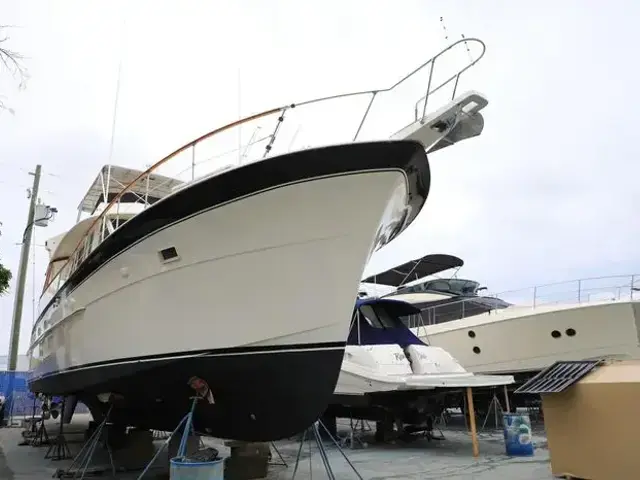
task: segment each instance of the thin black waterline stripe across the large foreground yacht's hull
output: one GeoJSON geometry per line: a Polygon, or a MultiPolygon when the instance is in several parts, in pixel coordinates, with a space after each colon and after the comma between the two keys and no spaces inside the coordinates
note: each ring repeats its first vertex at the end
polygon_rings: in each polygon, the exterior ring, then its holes
{"type": "Polygon", "coordinates": [[[264,355],[270,353],[286,353],[291,351],[304,351],[304,350],[332,350],[332,349],[344,349],[345,342],[324,342],[324,343],[295,343],[287,345],[261,345],[261,346],[242,346],[242,347],[228,347],[217,349],[204,349],[204,350],[190,350],[186,352],[172,352],[172,353],[157,353],[153,355],[143,355],[138,357],[117,358],[112,360],[102,360],[99,362],[83,363],[82,365],[76,365],[73,367],[65,368],[64,370],[56,370],[48,372],[44,375],[32,377],[29,379],[29,383],[38,381],[44,378],[49,378],[55,375],[63,375],[65,373],[74,372],[77,370],[84,370],[89,368],[101,368],[112,365],[119,365],[124,363],[136,363],[136,362],[152,362],[155,360],[180,360],[187,357],[214,357],[214,356],[231,356],[231,355],[264,355]]]}

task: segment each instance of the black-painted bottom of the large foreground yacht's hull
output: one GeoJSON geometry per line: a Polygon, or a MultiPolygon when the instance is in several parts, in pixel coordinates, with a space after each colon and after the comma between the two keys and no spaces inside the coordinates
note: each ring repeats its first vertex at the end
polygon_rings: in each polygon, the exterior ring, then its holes
{"type": "Polygon", "coordinates": [[[39,379],[31,388],[70,393],[74,385],[94,384],[79,399],[95,420],[101,420],[108,409],[97,394],[112,392],[123,398],[114,405],[111,422],[172,431],[191,407],[194,390],[188,381],[198,376],[208,383],[215,403],[198,402],[193,419],[197,432],[272,441],[293,436],[313,423],[330,402],[344,347],[246,350],[83,368],[39,379]]]}

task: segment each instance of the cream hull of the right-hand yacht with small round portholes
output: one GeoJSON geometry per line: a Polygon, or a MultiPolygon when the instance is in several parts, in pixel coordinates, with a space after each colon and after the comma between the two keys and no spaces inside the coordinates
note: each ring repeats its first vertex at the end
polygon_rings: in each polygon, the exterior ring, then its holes
{"type": "Polygon", "coordinates": [[[535,372],[555,361],[640,358],[639,327],[640,302],[608,301],[510,307],[412,330],[465,369],[500,374],[535,372]]]}

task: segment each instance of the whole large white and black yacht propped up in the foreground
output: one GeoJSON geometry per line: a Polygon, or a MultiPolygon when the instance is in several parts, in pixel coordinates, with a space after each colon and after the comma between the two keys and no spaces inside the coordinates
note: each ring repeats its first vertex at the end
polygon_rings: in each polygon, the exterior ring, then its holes
{"type": "Polygon", "coordinates": [[[252,115],[145,170],[103,167],[49,244],[31,390],[172,430],[204,381],[196,430],[302,431],[333,394],[366,262],[426,201],[425,151],[482,131],[486,99],[457,87],[483,54],[459,41],[389,88],[252,115]],[[468,46],[475,57],[432,82],[436,59],[468,46]],[[396,110],[376,113],[385,99],[396,110]]]}

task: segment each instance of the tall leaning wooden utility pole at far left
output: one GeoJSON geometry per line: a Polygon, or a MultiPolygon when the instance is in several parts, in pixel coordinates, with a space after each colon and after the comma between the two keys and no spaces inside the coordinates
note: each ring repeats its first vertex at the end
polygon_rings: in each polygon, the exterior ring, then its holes
{"type": "Polygon", "coordinates": [[[11,337],[9,343],[9,361],[7,370],[15,372],[18,364],[18,344],[20,342],[20,322],[22,320],[22,303],[24,299],[24,286],[27,280],[27,266],[29,264],[29,246],[31,245],[31,233],[35,227],[36,202],[38,201],[38,187],[40,186],[40,165],[36,165],[33,175],[33,187],[31,188],[31,202],[29,203],[29,215],[27,217],[27,227],[24,229],[22,237],[22,248],[20,249],[20,265],[18,267],[18,277],[16,278],[16,296],[13,300],[13,320],[11,321],[11,337]]]}

